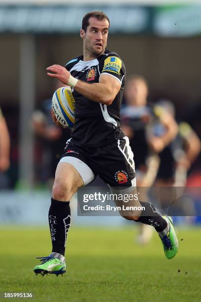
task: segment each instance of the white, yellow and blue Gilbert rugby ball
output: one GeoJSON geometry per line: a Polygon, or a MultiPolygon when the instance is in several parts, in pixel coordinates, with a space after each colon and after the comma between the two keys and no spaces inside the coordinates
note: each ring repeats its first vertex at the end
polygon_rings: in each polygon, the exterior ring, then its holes
{"type": "Polygon", "coordinates": [[[61,87],[55,91],[52,97],[52,111],[63,126],[73,127],[75,100],[70,87],[61,87]]]}

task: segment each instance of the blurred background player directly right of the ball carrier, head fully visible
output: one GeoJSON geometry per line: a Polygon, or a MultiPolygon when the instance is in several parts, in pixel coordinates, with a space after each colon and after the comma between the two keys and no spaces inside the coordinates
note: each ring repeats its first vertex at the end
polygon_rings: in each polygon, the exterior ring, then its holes
{"type": "MultiPolygon", "coordinates": [[[[147,105],[147,97],[146,79],[140,75],[127,77],[122,129],[134,153],[137,187],[143,187],[139,189],[141,200],[148,200],[148,189],[156,179],[160,164],[158,154],[175,138],[178,129],[170,114],[147,105]],[[155,123],[163,125],[164,133],[160,137],[153,132],[155,123]]],[[[147,243],[152,231],[150,226],[141,224],[137,241],[147,243]]]]}

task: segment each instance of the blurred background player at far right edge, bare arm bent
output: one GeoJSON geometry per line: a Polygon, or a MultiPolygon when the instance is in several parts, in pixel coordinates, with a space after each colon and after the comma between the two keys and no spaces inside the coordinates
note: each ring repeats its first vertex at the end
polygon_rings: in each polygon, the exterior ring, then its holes
{"type": "MultiPolygon", "coordinates": [[[[169,100],[161,100],[157,103],[157,110],[164,111],[175,116],[175,107],[169,100]]],[[[165,131],[162,124],[158,124],[155,134],[160,136],[165,131]]],[[[178,133],[174,140],[160,152],[160,166],[155,185],[162,189],[160,194],[164,208],[171,206],[174,215],[186,216],[185,221],[191,222],[195,215],[195,209],[191,198],[183,196],[187,183],[187,174],[192,164],[201,151],[201,142],[196,132],[186,121],[178,122],[178,133]],[[171,187],[174,187],[171,189],[171,187]],[[170,197],[167,200],[167,195],[170,197]],[[188,199],[187,199],[188,198],[188,199]]]]}

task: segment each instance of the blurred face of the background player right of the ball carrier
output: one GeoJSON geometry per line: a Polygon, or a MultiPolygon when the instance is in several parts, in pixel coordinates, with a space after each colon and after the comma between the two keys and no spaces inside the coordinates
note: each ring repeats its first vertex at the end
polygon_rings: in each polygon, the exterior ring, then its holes
{"type": "Polygon", "coordinates": [[[141,80],[130,80],[126,84],[125,96],[128,105],[145,106],[148,96],[147,86],[141,80]]]}

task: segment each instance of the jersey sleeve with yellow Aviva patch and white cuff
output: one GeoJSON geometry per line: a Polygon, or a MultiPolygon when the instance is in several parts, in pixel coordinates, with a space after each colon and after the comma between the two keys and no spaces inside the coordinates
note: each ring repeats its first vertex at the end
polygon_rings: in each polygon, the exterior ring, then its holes
{"type": "Polygon", "coordinates": [[[113,76],[122,83],[126,75],[125,65],[117,55],[109,55],[103,62],[101,74],[113,76]]]}

